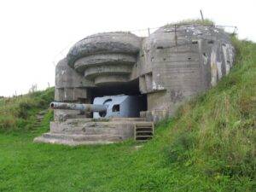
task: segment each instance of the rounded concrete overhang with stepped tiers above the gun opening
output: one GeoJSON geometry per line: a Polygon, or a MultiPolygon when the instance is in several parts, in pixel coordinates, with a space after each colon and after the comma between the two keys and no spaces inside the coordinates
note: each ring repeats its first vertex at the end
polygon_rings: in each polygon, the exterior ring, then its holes
{"type": "Polygon", "coordinates": [[[70,67],[96,85],[126,82],[140,49],[140,38],[130,32],[99,33],[69,50],[70,67]]]}

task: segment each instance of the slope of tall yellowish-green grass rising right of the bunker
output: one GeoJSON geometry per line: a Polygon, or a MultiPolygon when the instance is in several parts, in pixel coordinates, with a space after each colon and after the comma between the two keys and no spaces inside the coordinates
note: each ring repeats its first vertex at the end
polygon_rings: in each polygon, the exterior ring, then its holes
{"type": "Polygon", "coordinates": [[[233,42],[235,67],[217,87],[179,108],[166,136],[167,157],[208,177],[245,179],[256,187],[256,44],[233,42]]]}

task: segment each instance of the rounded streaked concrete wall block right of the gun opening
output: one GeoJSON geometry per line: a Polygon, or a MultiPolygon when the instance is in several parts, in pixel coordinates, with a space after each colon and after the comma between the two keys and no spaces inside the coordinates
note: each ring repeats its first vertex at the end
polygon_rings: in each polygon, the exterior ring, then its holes
{"type": "Polygon", "coordinates": [[[184,101],[214,86],[230,71],[235,50],[213,26],[166,26],[143,40],[140,90],[148,95],[149,119],[169,116],[184,101]],[[149,115],[151,113],[151,115],[149,115]]]}

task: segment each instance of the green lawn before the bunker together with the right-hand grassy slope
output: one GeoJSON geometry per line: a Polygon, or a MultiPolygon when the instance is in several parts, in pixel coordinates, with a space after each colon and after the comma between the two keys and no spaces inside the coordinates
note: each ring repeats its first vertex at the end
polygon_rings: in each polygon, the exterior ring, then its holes
{"type": "Polygon", "coordinates": [[[0,191],[255,191],[256,44],[206,95],[158,125],[154,139],[69,148],[38,132],[0,134],[0,191]]]}

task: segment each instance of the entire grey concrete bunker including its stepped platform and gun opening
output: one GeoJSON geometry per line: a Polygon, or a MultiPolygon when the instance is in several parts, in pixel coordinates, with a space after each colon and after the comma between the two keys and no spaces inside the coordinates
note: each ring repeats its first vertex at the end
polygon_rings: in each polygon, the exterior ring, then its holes
{"type": "Polygon", "coordinates": [[[55,68],[55,102],[83,103],[87,111],[55,108],[50,132],[35,142],[148,138],[140,135],[143,128],[153,136],[155,122],[229,73],[234,55],[229,35],[214,26],[163,26],[147,38],[131,32],[84,38],[55,68]]]}

